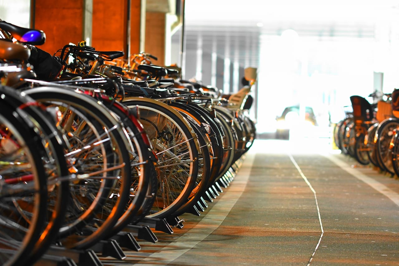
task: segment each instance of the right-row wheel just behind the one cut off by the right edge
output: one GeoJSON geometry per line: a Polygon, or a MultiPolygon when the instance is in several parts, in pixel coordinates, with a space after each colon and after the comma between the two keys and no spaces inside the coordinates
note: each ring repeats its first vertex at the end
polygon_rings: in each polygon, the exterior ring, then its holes
{"type": "Polygon", "coordinates": [[[392,166],[392,152],[390,151],[390,143],[395,135],[396,129],[399,127],[399,119],[389,118],[382,121],[375,134],[377,142],[377,160],[378,163],[383,167],[384,171],[387,171],[391,175],[395,174],[392,166]]]}

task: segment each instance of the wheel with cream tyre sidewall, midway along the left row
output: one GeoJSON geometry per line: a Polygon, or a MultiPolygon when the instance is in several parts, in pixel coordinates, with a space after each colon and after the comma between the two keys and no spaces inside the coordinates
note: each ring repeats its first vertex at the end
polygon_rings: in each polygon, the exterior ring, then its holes
{"type": "Polygon", "coordinates": [[[158,156],[158,192],[148,217],[165,218],[186,202],[198,175],[196,134],[186,119],[165,103],[127,97],[122,103],[136,108],[158,156]]]}

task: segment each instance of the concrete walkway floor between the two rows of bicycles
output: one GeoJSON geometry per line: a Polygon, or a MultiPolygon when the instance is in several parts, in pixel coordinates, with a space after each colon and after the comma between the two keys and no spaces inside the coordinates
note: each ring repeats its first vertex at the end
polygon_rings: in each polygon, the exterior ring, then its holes
{"type": "Polygon", "coordinates": [[[399,265],[399,180],[328,139],[257,140],[201,216],[104,265],[399,265]]]}

